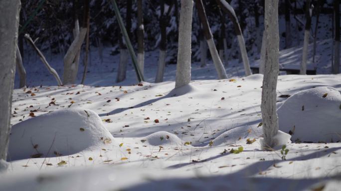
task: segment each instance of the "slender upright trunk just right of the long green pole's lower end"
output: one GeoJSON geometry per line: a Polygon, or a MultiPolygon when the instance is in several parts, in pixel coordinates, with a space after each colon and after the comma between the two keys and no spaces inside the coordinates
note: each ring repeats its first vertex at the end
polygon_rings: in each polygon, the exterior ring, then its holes
{"type": "Polygon", "coordinates": [[[137,0],[138,4],[138,29],[137,29],[137,40],[138,40],[138,65],[140,66],[140,71],[144,74],[145,67],[145,29],[143,25],[143,7],[142,0],[137,0]]]}

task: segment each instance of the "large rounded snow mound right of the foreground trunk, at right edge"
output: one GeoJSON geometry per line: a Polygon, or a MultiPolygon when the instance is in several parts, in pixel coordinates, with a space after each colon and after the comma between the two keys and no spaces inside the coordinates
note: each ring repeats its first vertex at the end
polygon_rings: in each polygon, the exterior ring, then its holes
{"type": "Polygon", "coordinates": [[[333,87],[303,90],[278,108],[280,130],[293,141],[331,142],[341,139],[341,94],[333,87]]]}

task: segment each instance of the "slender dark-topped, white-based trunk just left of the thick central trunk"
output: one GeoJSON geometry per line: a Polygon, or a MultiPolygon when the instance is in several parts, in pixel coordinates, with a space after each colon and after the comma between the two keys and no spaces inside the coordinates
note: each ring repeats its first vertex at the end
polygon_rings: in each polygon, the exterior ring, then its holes
{"type": "Polygon", "coordinates": [[[160,31],[161,31],[161,42],[160,42],[160,52],[159,52],[159,64],[157,70],[157,76],[155,78],[155,83],[162,82],[164,80],[164,72],[166,66],[166,56],[167,56],[167,15],[165,14],[165,0],[160,0],[161,14],[159,18],[160,31]]]}

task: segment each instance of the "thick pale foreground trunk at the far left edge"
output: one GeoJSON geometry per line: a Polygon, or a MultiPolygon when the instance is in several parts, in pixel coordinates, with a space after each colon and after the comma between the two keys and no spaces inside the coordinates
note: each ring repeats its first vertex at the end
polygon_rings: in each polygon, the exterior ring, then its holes
{"type": "Polygon", "coordinates": [[[0,1],[0,171],[7,168],[20,6],[20,0],[0,1]]]}

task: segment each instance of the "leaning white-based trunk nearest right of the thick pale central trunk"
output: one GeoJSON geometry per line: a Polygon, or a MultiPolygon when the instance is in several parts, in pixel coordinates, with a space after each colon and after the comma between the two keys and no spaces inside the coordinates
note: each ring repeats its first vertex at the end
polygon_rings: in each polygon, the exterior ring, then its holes
{"type": "Polygon", "coordinates": [[[206,12],[203,7],[202,0],[195,0],[195,5],[198,10],[199,19],[202,24],[203,33],[207,41],[209,52],[211,53],[211,57],[212,57],[215,69],[217,70],[217,73],[218,73],[218,78],[226,79],[227,75],[226,75],[225,67],[222,64],[218,51],[215,47],[213,36],[211,33],[211,29],[209,28],[209,24],[207,21],[206,12]]]}

